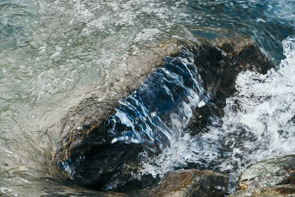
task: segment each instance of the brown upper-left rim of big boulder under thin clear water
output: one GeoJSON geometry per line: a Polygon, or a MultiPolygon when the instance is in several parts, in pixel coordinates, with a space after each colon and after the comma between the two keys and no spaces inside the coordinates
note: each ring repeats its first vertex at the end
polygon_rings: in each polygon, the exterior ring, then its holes
{"type": "MultiPolygon", "coordinates": [[[[83,160],[85,153],[98,147],[104,149],[109,141],[104,131],[104,121],[112,113],[119,99],[140,86],[148,74],[163,62],[165,56],[173,56],[182,45],[176,40],[156,46],[143,47],[139,55],[131,55],[127,65],[112,69],[99,83],[90,98],[71,108],[67,115],[50,130],[60,130],[60,139],[53,147],[53,158],[62,170],[73,176],[73,170],[83,160]],[[66,167],[65,167],[66,166],[66,167]],[[65,169],[67,168],[67,169],[65,169]]],[[[96,150],[97,151],[97,150],[96,150]]]]}

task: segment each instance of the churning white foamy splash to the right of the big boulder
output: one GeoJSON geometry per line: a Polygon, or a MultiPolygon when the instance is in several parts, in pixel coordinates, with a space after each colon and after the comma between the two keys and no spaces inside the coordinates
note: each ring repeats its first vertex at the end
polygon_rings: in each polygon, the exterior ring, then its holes
{"type": "MultiPolygon", "coordinates": [[[[223,118],[211,117],[208,132],[185,134],[158,157],[146,157],[143,173],[180,168],[226,171],[236,180],[249,164],[295,152],[295,39],[283,41],[286,59],[278,71],[240,73],[237,93],[227,99],[223,118]]],[[[145,155],[144,155],[145,156],[145,155]]]]}

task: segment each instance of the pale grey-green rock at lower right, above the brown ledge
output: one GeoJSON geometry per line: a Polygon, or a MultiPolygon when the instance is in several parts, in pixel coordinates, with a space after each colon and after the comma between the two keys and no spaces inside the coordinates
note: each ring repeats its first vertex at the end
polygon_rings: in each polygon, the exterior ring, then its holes
{"type": "Polygon", "coordinates": [[[239,176],[239,189],[295,184],[295,155],[250,165],[239,176]]]}

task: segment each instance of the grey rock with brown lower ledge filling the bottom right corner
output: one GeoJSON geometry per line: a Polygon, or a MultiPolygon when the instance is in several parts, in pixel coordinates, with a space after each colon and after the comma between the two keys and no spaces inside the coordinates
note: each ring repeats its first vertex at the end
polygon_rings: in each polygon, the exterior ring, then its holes
{"type": "Polygon", "coordinates": [[[295,155],[250,165],[239,176],[238,186],[230,197],[294,197],[295,155]]]}

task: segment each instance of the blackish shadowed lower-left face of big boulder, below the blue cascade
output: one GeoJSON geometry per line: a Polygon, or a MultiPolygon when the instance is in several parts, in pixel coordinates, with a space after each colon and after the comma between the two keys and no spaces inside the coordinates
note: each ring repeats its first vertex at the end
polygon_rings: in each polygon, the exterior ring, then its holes
{"type": "MultiPolygon", "coordinates": [[[[99,154],[88,158],[76,171],[74,182],[78,185],[95,190],[112,190],[128,187],[128,182],[134,179],[133,174],[141,170],[141,161],[138,154],[143,152],[140,144],[115,143],[108,146],[99,154]],[[120,180],[118,184],[117,180],[120,180]]],[[[155,179],[147,177],[155,183],[155,179]]],[[[153,184],[152,183],[152,184],[153,184]]],[[[131,184],[141,188],[142,181],[131,184]]],[[[130,184],[129,184],[130,185],[130,184]]],[[[119,190],[123,192],[124,190],[119,190]]]]}

